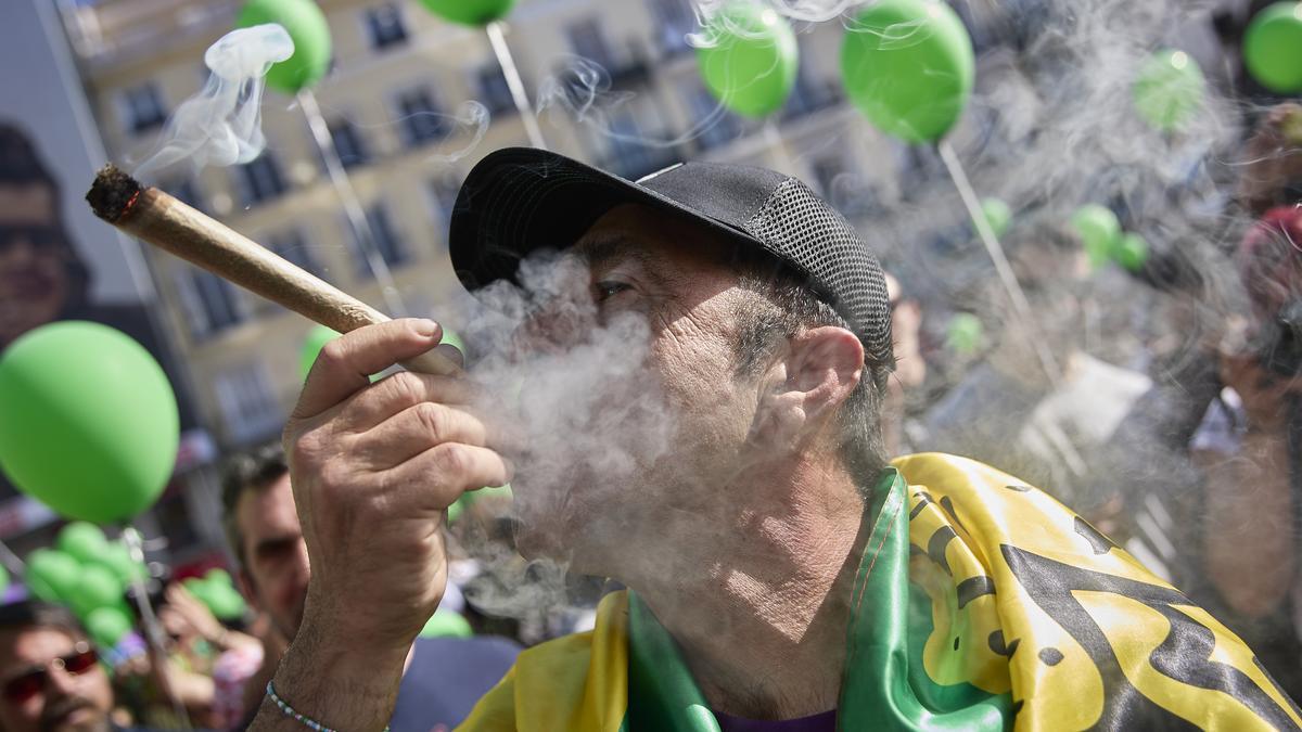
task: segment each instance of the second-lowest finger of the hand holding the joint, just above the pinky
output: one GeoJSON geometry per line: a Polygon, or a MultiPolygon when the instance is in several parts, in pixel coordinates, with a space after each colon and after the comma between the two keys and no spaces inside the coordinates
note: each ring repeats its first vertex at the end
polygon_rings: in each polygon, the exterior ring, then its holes
{"type": "Polygon", "coordinates": [[[422,401],[367,431],[354,449],[374,469],[385,470],[443,443],[486,447],[488,439],[488,429],[474,414],[422,401]]]}

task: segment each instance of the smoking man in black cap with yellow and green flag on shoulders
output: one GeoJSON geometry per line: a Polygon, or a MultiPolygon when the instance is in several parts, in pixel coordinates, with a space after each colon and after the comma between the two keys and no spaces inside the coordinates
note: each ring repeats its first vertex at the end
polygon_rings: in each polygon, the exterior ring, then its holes
{"type": "Polygon", "coordinates": [[[328,344],[285,430],[307,602],[255,729],[383,728],[444,594],[448,505],[506,481],[526,556],[629,590],[522,653],[466,729],[1302,727],[1238,638],[1044,492],[953,456],[888,462],[885,279],[801,181],[687,163],[634,184],[499,150],[449,242],[471,289],[542,276],[508,354],[526,404],[548,356],[641,367],[578,380],[595,421],[583,393],[531,425],[465,376],[370,382],[456,358],[431,320],[328,344]],[[564,255],[519,267],[542,247],[564,255]],[[652,444],[637,422],[658,408],[652,444]],[[591,447],[557,460],[557,431],[591,447]]]}

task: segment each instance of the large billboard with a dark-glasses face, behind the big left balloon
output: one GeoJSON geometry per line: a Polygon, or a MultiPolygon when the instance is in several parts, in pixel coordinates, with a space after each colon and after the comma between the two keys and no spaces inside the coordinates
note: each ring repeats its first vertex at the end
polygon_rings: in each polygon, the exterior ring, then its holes
{"type": "MultiPolygon", "coordinates": [[[[0,44],[0,354],[23,333],[77,319],[117,328],[168,371],[182,430],[194,427],[184,383],[150,309],[137,244],[82,201],[105,160],[53,3],[12,3],[0,44]],[[48,16],[48,17],[47,17],[48,16]]],[[[0,539],[55,516],[0,475],[0,539]]]]}

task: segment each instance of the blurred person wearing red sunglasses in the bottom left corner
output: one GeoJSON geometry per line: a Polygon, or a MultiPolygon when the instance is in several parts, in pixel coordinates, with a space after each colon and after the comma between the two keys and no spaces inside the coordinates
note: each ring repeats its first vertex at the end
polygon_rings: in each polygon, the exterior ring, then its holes
{"type": "Polygon", "coordinates": [[[40,602],[0,607],[0,729],[112,729],[113,692],[77,619],[40,602]]]}

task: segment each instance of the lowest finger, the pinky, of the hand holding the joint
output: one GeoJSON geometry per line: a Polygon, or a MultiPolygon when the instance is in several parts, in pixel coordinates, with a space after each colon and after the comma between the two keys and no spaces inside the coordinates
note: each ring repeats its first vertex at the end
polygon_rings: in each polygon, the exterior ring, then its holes
{"type": "Polygon", "coordinates": [[[443,443],[384,474],[385,490],[408,494],[413,505],[443,511],[466,491],[505,486],[512,466],[496,451],[443,443]]]}

